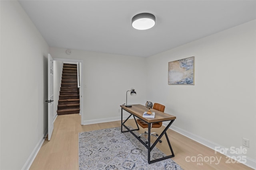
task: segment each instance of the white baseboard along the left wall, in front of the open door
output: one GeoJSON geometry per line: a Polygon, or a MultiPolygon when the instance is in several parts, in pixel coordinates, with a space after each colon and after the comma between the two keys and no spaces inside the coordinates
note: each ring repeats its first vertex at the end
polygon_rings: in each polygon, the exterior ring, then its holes
{"type": "Polygon", "coordinates": [[[32,153],[30,154],[30,156],[28,157],[28,160],[26,161],[26,163],[24,164],[24,166],[22,167],[22,170],[29,170],[30,166],[32,165],[34,159],[36,158],[36,155],[38,154],[40,148],[42,147],[43,143],[44,143],[44,137],[46,137],[46,135],[48,134],[48,130],[46,132],[44,132],[44,136],[41,137],[41,140],[38,141],[38,143],[36,144],[36,147],[34,148],[34,150],[32,151],[32,153]]]}

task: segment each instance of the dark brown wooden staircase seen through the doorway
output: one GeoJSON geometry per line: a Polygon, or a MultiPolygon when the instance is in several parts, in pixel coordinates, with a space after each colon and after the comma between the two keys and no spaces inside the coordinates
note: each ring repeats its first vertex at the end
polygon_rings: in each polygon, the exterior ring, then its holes
{"type": "Polygon", "coordinates": [[[80,112],[79,88],[77,87],[76,64],[63,64],[60,96],[58,100],[58,115],[80,112]]]}

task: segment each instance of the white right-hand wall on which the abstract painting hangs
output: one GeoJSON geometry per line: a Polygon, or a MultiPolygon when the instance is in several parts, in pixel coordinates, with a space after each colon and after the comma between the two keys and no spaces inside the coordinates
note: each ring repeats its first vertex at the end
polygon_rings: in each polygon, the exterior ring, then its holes
{"type": "Polygon", "coordinates": [[[148,57],[147,65],[148,100],[164,104],[175,127],[228,149],[245,137],[245,156],[256,160],[255,20],[148,57]],[[192,56],[195,85],[168,85],[168,62],[192,56]]]}

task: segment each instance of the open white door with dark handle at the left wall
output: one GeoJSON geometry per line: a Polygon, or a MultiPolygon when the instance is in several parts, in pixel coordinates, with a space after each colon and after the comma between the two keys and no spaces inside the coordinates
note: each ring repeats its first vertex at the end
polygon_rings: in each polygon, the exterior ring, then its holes
{"type": "Polygon", "coordinates": [[[54,123],[53,113],[53,59],[48,54],[48,141],[52,137],[54,123]]]}

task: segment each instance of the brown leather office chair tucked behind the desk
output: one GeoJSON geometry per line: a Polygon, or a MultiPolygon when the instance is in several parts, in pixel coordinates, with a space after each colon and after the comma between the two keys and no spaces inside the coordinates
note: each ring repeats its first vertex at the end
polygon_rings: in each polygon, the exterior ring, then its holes
{"type": "MultiPolygon", "coordinates": [[[[154,103],[153,109],[164,112],[165,106],[162,104],[154,103]]],[[[137,121],[138,125],[140,125],[142,128],[148,128],[148,124],[145,123],[143,120],[137,119],[136,121],[137,121]]],[[[159,128],[161,126],[162,126],[162,122],[152,123],[150,129],[151,128],[159,128]]],[[[152,133],[150,133],[150,135],[158,138],[158,134],[154,135],[155,133],[156,132],[152,132],[152,133]]],[[[148,135],[148,132],[145,131],[144,133],[140,134],[138,137],[140,137],[141,135],[148,135]]],[[[162,143],[162,140],[159,140],[159,142],[162,143]]],[[[148,139],[146,141],[146,144],[148,144],[148,139]]]]}

